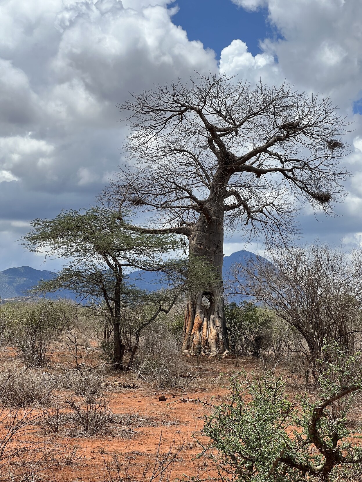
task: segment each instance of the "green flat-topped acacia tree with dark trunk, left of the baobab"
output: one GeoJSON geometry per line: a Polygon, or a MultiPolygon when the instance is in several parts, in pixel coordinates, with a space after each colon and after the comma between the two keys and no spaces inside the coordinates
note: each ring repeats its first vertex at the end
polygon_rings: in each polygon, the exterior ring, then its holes
{"type": "Polygon", "coordinates": [[[193,276],[190,275],[190,262],[176,255],[181,248],[180,237],[131,231],[118,217],[119,212],[101,207],[62,211],[54,219],[33,220],[32,230],[23,241],[28,251],[65,260],[58,276],[42,281],[34,291],[67,289],[90,304],[104,301],[113,329],[113,362],[122,370],[125,350],[121,336],[122,307],[140,301],[150,306],[150,316],[136,330],[137,338],[141,329],[172,308],[190,282],[199,282],[203,276],[202,268],[196,265],[191,270],[193,276]],[[162,273],[169,289],[156,294],[137,289],[127,282],[127,273],[135,268],[162,273]]]}

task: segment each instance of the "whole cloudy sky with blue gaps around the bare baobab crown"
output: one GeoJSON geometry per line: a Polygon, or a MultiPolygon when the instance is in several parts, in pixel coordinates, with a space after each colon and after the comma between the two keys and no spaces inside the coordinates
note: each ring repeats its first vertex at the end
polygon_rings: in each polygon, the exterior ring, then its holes
{"type": "MultiPolygon", "coordinates": [[[[123,165],[117,104],[195,70],[284,80],[351,122],[335,217],[303,206],[301,242],[362,244],[360,0],[5,0],[0,3],[0,270],[61,268],[19,241],[34,218],[85,208],[123,165]]],[[[263,251],[229,234],[225,254],[263,251]]]]}

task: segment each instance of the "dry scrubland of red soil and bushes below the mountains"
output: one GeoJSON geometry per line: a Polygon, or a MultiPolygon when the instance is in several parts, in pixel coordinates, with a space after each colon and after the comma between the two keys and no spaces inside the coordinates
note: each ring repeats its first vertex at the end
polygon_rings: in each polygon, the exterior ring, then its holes
{"type": "Polygon", "coordinates": [[[181,355],[182,300],[142,330],[135,352],[135,327],[152,307],[124,307],[124,370],[107,310],[49,299],[0,306],[1,477],[360,480],[361,313],[356,299],[324,288],[327,309],[314,298],[299,312],[300,322],[309,316],[305,336],[266,305],[226,303],[224,358],[181,355]],[[349,319],[334,308],[332,320],[331,295],[349,319]],[[316,354],[307,339],[318,342],[323,317],[316,354]]]}

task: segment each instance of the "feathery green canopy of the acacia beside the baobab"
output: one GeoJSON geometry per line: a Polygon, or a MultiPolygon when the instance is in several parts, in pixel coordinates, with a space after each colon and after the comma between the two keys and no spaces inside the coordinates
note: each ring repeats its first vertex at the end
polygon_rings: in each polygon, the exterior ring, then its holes
{"type": "Polygon", "coordinates": [[[181,249],[180,238],[126,229],[119,218],[118,211],[92,207],[62,211],[54,219],[35,219],[32,231],[23,238],[26,248],[67,261],[55,279],[43,281],[35,291],[66,288],[88,301],[102,298],[111,304],[115,290],[128,298],[142,295],[125,283],[127,271],[140,268],[168,274],[175,270],[177,261],[168,256],[181,249]]]}

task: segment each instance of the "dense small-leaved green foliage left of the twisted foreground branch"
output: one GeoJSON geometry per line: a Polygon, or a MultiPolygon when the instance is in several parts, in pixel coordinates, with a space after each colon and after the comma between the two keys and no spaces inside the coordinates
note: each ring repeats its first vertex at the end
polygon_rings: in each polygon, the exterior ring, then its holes
{"type": "MultiPolygon", "coordinates": [[[[290,445],[281,428],[283,422],[288,425],[292,411],[292,404],[283,396],[283,384],[265,378],[245,387],[237,377],[232,377],[230,384],[230,402],[216,407],[204,427],[218,451],[218,467],[236,481],[278,480],[265,476],[290,445]]],[[[285,464],[277,465],[278,476],[285,475],[284,469],[285,464]]]]}

